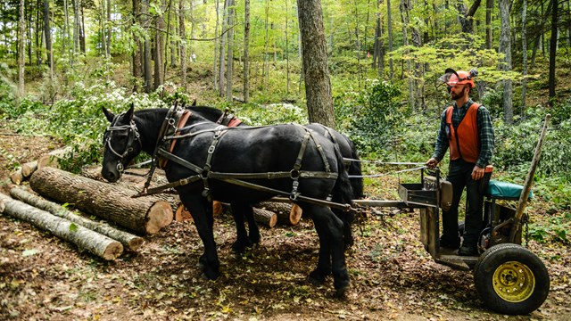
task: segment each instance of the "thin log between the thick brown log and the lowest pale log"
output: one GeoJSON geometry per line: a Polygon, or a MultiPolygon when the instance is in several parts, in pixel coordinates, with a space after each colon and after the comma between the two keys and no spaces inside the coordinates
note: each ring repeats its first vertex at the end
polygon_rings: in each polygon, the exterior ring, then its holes
{"type": "Polygon", "coordinates": [[[36,207],[37,209],[46,210],[57,217],[65,218],[73,223],[79,224],[80,226],[94,230],[99,234],[109,236],[113,240],[119,241],[129,250],[135,251],[145,242],[142,237],[120,231],[117,228],[113,228],[112,226],[104,223],[99,223],[87,218],[83,218],[79,215],[74,214],[70,210],[66,210],[60,204],[46,201],[33,193],[22,190],[21,188],[12,188],[10,190],[10,195],[15,199],[19,199],[22,202],[26,202],[29,205],[36,207]]]}

